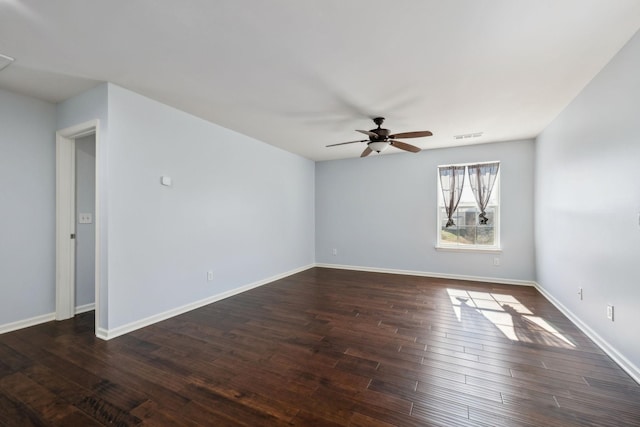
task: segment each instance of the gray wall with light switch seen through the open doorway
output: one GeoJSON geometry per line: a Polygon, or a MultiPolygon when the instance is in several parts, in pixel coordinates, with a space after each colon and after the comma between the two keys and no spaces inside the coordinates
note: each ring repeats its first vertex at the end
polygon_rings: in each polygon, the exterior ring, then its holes
{"type": "Polygon", "coordinates": [[[95,302],[95,201],[96,137],[76,139],[76,307],[95,302]],[[81,213],[90,213],[90,224],[81,224],[81,213]]]}

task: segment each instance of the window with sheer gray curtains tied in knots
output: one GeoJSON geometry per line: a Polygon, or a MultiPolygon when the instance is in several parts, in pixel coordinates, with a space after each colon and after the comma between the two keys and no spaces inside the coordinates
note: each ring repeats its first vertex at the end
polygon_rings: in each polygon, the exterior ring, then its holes
{"type": "MultiPolygon", "coordinates": [[[[485,174],[485,178],[487,177],[488,174],[485,174]]],[[[438,166],[438,241],[436,246],[462,250],[500,249],[500,169],[498,162],[438,166]],[[488,188],[491,194],[484,210],[486,223],[483,223],[485,221],[481,216],[482,210],[476,201],[469,179],[469,166],[472,171],[475,171],[477,168],[474,166],[478,165],[483,170],[496,165],[493,188],[491,185],[487,185],[486,181],[481,184],[481,186],[484,185],[482,190],[486,191],[488,188]],[[457,172],[450,172],[453,170],[457,172]],[[456,175],[456,181],[449,182],[448,180],[453,174],[456,175]],[[445,186],[445,195],[442,191],[443,185],[445,186]],[[454,188],[457,188],[455,191],[460,191],[460,186],[462,187],[460,201],[456,208],[454,202],[445,201],[445,198],[450,198],[454,188]],[[453,211],[451,220],[447,214],[447,208],[453,211]]]]}

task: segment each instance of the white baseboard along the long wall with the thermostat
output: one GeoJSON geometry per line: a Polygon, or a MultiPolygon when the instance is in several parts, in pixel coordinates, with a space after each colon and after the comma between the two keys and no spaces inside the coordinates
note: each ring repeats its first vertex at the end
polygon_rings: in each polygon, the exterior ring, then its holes
{"type": "Polygon", "coordinates": [[[195,301],[189,304],[185,304],[181,307],[172,308],[171,310],[167,310],[162,313],[154,314],[153,316],[146,317],[144,319],[136,320],[135,322],[127,323],[126,325],[118,326],[113,329],[104,329],[97,328],[96,336],[103,340],[110,340],[112,338],[119,337],[120,335],[128,334],[129,332],[133,332],[137,329],[144,328],[145,326],[153,325],[154,323],[161,322],[163,320],[170,319],[172,317],[178,316],[180,314],[186,313],[191,310],[195,310],[197,308],[203,307],[205,305],[209,305],[216,301],[223,300],[225,298],[232,297],[234,295],[241,294],[253,288],[257,288],[262,285],[266,285],[267,283],[274,282],[276,280],[284,279],[285,277],[291,276],[296,273],[300,273],[301,271],[308,270],[313,268],[314,264],[309,264],[304,267],[299,267],[294,270],[287,271],[285,273],[277,274],[275,276],[271,276],[266,279],[258,280],[253,283],[249,283],[244,286],[240,286],[238,288],[230,289],[228,291],[212,295],[210,297],[201,299],[199,301],[195,301]]]}

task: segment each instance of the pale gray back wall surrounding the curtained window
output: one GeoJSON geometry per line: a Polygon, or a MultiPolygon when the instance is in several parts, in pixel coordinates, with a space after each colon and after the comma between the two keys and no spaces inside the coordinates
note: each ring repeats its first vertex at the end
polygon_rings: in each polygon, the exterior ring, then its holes
{"type": "Polygon", "coordinates": [[[529,140],[318,162],[316,261],[533,281],[533,159],[529,140]],[[503,252],[436,251],[437,166],[493,160],[501,161],[503,252]]]}

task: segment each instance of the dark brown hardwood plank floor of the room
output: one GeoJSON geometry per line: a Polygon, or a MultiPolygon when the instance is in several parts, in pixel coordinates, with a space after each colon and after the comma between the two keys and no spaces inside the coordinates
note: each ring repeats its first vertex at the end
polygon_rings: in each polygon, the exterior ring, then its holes
{"type": "Polygon", "coordinates": [[[535,289],[313,268],[111,341],[0,335],[2,426],[638,426],[535,289]]]}

